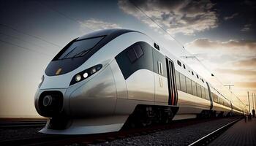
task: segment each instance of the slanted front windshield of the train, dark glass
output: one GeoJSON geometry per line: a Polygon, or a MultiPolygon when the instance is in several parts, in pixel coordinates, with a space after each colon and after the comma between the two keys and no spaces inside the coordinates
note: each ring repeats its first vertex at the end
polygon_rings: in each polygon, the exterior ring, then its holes
{"type": "Polygon", "coordinates": [[[91,39],[81,39],[75,41],[72,43],[72,45],[69,45],[69,47],[67,47],[67,49],[61,53],[61,55],[59,55],[58,60],[83,56],[102,39],[103,37],[94,37],[91,39]]]}

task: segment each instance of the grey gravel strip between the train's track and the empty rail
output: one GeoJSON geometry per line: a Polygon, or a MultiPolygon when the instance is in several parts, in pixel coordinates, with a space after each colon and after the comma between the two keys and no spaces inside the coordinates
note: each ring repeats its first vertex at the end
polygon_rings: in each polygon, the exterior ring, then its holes
{"type": "Polygon", "coordinates": [[[197,123],[192,126],[172,128],[169,130],[157,131],[152,134],[116,139],[111,142],[102,142],[94,145],[189,145],[197,139],[204,137],[206,134],[211,133],[211,131],[230,123],[234,119],[235,118],[223,118],[205,123],[197,123]]]}

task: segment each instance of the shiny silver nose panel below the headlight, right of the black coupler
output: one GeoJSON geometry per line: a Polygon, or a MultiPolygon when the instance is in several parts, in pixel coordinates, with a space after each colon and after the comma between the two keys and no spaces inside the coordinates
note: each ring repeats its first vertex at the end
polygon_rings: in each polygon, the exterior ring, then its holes
{"type": "Polygon", "coordinates": [[[116,84],[110,66],[83,83],[70,86],[70,113],[75,118],[111,115],[116,105],[116,84]]]}

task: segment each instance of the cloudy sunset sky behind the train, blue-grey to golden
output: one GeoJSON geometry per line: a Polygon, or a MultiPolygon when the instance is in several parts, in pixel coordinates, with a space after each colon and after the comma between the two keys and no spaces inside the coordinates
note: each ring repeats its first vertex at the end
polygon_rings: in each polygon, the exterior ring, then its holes
{"type": "Polygon", "coordinates": [[[105,28],[147,34],[219,91],[234,85],[244,104],[249,91],[253,107],[255,10],[255,1],[1,0],[0,118],[39,117],[34,94],[48,63],[72,39],[105,28]]]}

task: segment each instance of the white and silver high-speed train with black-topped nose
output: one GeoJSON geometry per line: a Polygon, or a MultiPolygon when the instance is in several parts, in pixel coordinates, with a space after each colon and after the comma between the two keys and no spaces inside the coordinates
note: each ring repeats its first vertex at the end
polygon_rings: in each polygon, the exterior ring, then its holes
{"type": "Polygon", "coordinates": [[[95,134],[170,120],[243,115],[193,69],[146,34],[94,31],[50,61],[34,98],[46,134],[95,134]]]}

